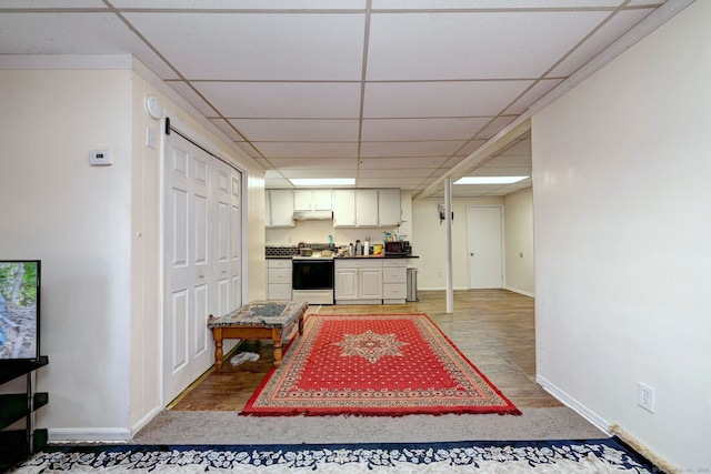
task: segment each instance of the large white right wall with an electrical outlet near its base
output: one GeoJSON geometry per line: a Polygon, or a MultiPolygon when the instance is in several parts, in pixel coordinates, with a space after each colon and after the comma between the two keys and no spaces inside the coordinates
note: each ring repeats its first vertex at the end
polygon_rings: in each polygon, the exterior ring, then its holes
{"type": "Polygon", "coordinates": [[[539,380],[693,472],[711,466],[710,18],[691,4],[532,120],[539,380]]]}

